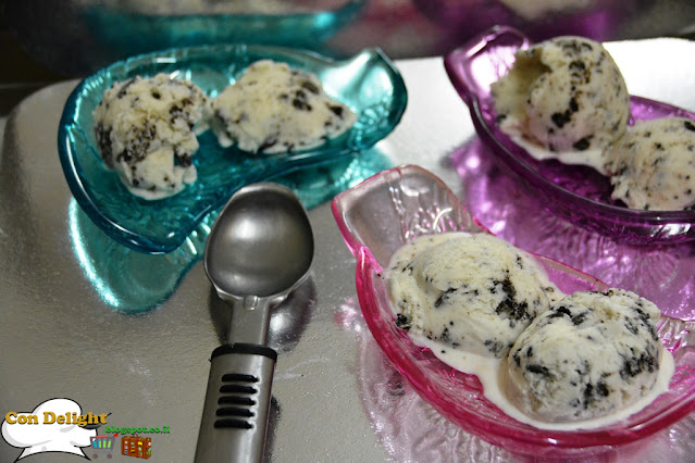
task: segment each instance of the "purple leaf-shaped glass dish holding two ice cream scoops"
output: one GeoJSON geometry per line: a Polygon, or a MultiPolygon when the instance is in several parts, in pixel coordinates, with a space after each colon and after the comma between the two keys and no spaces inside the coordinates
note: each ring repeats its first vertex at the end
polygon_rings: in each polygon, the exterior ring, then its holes
{"type": "MultiPolygon", "coordinates": [[[[651,245],[694,240],[695,210],[628,209],[610,198],[608,177],[586,166],[537,161],[499,129],[491,84],[511,67],[514,52],[530,45],[519,30],[495,27],[447,54],[444,61],[449,79],[469,107],[479,137],[498,163],[516,174],[546,208],[616,241],[651,245]]],[[[641,97],[631,97],[631,124],[656,117],[695,118],[691,112],[641,97]]]]}

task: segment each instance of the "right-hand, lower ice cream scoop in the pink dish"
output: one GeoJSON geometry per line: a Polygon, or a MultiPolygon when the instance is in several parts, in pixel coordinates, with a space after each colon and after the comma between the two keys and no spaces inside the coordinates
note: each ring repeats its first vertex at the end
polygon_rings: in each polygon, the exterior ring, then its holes
{"type": "Polygon", "coordinates": [[[663,346],[657,306],[637,295],[574,292],[553,303],[509,352],[506,391],[531,417],[606,416],[654,387],[663,346]]]}

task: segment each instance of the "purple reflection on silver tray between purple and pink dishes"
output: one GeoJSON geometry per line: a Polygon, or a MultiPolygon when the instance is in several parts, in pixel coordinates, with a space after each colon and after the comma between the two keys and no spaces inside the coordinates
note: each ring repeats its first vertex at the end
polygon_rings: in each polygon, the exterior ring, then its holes
{"type": "Polygon", "coordinates": [[[547,202],[506,175],[479,139],[459,147],[451,163],[461,178],[463,202],[495,235],[634,291],[668,316],[695,321],[692,242],[630,246],[558,217],[547,202]]]}

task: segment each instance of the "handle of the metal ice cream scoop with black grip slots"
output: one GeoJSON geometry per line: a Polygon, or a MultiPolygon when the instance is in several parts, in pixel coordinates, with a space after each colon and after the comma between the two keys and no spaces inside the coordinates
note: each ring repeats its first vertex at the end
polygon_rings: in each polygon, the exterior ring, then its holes
{"type": "Polygon", "coordinates": [[[196,463],[260,462],[277,352],[234,343],[212,352],[196,463]]]}

